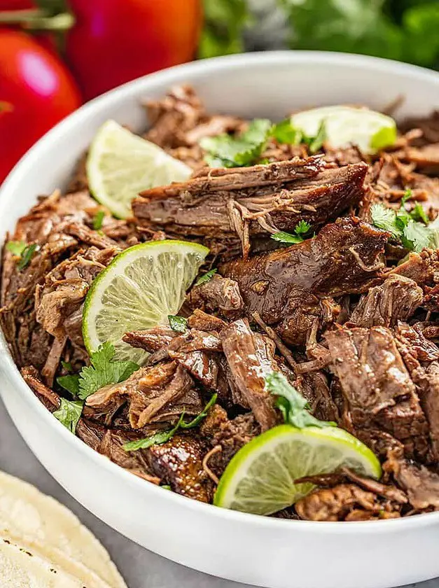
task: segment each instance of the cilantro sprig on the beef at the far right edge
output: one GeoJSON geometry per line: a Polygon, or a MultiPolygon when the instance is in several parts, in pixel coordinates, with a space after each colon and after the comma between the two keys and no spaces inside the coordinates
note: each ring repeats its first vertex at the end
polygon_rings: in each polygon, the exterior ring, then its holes
{"type": "Polygon", "coordinates": [[[415,204],[411,212],[405,209],[405,202],[411,195],[411,190],[405,191],[397,211],[379,203],[372,205],[370,213],[375,227],[390,232],[392,237],[400,241],[409,251],[419,253],[425,247],[435,246],[439,228],[436,228],[434,223],[428,223],[428,218],[419,202],[415,204]]]}

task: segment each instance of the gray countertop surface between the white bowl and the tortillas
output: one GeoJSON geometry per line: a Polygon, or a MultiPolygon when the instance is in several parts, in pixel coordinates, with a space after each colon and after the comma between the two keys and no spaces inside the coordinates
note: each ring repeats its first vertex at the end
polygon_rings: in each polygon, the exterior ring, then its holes
{"type": "MultiPolygon", "coordinates": [[[[219,580],[148,552],[85,510],[37,461],[15,429],[1,402],[0,469],[31,482],[73,510],[109,550],[129,588],[245,588],[244,584],[219,580]]],[[[439,580],[423,582],[416,586],[439,588],[439,580]]]]}

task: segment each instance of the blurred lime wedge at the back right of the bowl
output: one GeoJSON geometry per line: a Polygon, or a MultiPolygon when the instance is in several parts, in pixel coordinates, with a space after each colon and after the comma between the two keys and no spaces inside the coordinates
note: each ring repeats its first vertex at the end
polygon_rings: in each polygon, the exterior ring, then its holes
{"type": "Polygon", "coordinates": [[[333,147],[357,145],[363,153],[375,153],[396,141],[396,123],[390,116],[354,106],[324,106],[294,114],[293,127],[315,137],[324,121],[326,141],[333,147]]]}

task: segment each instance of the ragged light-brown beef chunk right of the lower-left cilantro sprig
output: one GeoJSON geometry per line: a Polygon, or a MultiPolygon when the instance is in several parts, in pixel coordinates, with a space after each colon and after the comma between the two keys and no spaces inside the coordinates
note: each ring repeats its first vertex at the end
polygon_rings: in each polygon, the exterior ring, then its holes
{"type": "Polygon", "coordinates": [[[88,396],[86,405],[112,416],[125,402],[133,429],[150,423],[174,423],[183,410],[197,414],[202,409],[193,380],[175,361],[142,367],[120,384],[109,384],[88,396]]]}

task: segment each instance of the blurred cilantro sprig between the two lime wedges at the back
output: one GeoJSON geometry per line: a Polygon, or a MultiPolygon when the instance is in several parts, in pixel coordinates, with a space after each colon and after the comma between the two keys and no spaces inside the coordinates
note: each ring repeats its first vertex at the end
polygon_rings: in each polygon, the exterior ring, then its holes
{"type": "Polygon", "coordinates": [[[249,124],[249,128],[238,137],[227,133],[216,137],[203,137],[200,146],[206,151],[204,160],[210,167],[246,167],[260,160],[260,155],[270,138],[281,144],[304,143],[310,153],[316,153],[326,139],[325,122],[322,121],[315,137],[307,137],[293,126],[291,118],[274,125],[266,118],[255,118],[249,124]]]}

